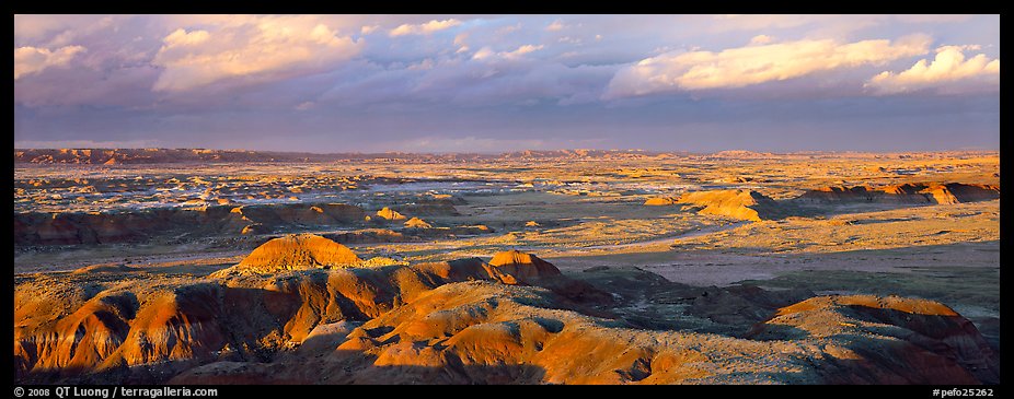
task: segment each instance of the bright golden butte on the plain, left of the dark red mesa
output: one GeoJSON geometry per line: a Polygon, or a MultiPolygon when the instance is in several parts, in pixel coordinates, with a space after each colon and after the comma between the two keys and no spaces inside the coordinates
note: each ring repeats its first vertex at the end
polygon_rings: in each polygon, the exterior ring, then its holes
{"type": "Polygon", "coordinates": [[[682,195],[677,203],[702,207],[698,213],[760,222],[781,216],[773,199],[753,190],[712,190],[682,195]]]}

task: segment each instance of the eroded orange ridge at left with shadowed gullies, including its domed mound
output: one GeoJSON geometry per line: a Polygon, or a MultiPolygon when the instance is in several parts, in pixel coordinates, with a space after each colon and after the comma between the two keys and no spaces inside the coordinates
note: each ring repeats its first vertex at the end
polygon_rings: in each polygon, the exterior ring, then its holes
{"type": "MultiPolygon", "coordinates": [[[[608,294],[520,253],[499,266],[471,258],[345,267],[357,260],[350,250],[326,238],[296,235],[273,239],[240,265],[198,282],[164,285],[135,275],[130,284],[100,287],[83,301],[66,292],[79,285],[84,273],[59,283],[46,279],[20,284],[15,290],[16,375],[53,382],[104,373],[102,380],[126,380],[141,378],[131,372],[135,368],[128,369],[134,366],[162,367],[159,375],[174,375],[214,361],[254,361],[265,351],[298,345],[322,324],[364,322],[437,286],[461,281],[543,284],[555,301],[567,306],[609,301],[608,294]],[[324,269],[335,266],[341,268],[324,269]]],[[[120,278],[130,279],[129,274],[138,272],[123,273],[127,274],[120,278]]]]}

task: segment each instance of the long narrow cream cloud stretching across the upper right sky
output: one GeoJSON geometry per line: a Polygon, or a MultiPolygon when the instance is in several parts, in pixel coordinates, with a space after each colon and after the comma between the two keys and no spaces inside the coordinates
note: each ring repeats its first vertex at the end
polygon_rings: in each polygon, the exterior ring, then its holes
{"type": "Polygon", "coordinates": [[[670,51],[629,66],[609,84],[607,97],[661,92],[744,87],[784,81],[815,72],[883,64],[923,55],[930,38],[912,35],[842,44],[803,39],[712,51],[670,51]]]}

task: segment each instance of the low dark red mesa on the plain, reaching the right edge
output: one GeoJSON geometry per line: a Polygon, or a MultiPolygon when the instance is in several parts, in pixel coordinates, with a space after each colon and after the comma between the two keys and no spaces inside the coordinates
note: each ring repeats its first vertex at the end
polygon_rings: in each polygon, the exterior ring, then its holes
{"type": "Polygon", "coordinates": [[[873,188],[836,186],[809,190],[803,202],[964,203],[1000,198],[1000,186],[963,183],[909,183],[873,188]]]}

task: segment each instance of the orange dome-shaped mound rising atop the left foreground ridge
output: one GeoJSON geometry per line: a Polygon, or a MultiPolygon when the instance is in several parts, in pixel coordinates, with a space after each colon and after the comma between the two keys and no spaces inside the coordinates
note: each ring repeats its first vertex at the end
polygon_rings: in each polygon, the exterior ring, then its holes
{"type": "Polygon", "coordinates": [[[274,273],[285,270],[348,267],[362,260],[348,247],[315,234],[287,235],[254,249],[234,267],[240,272],[274,273]]]}

